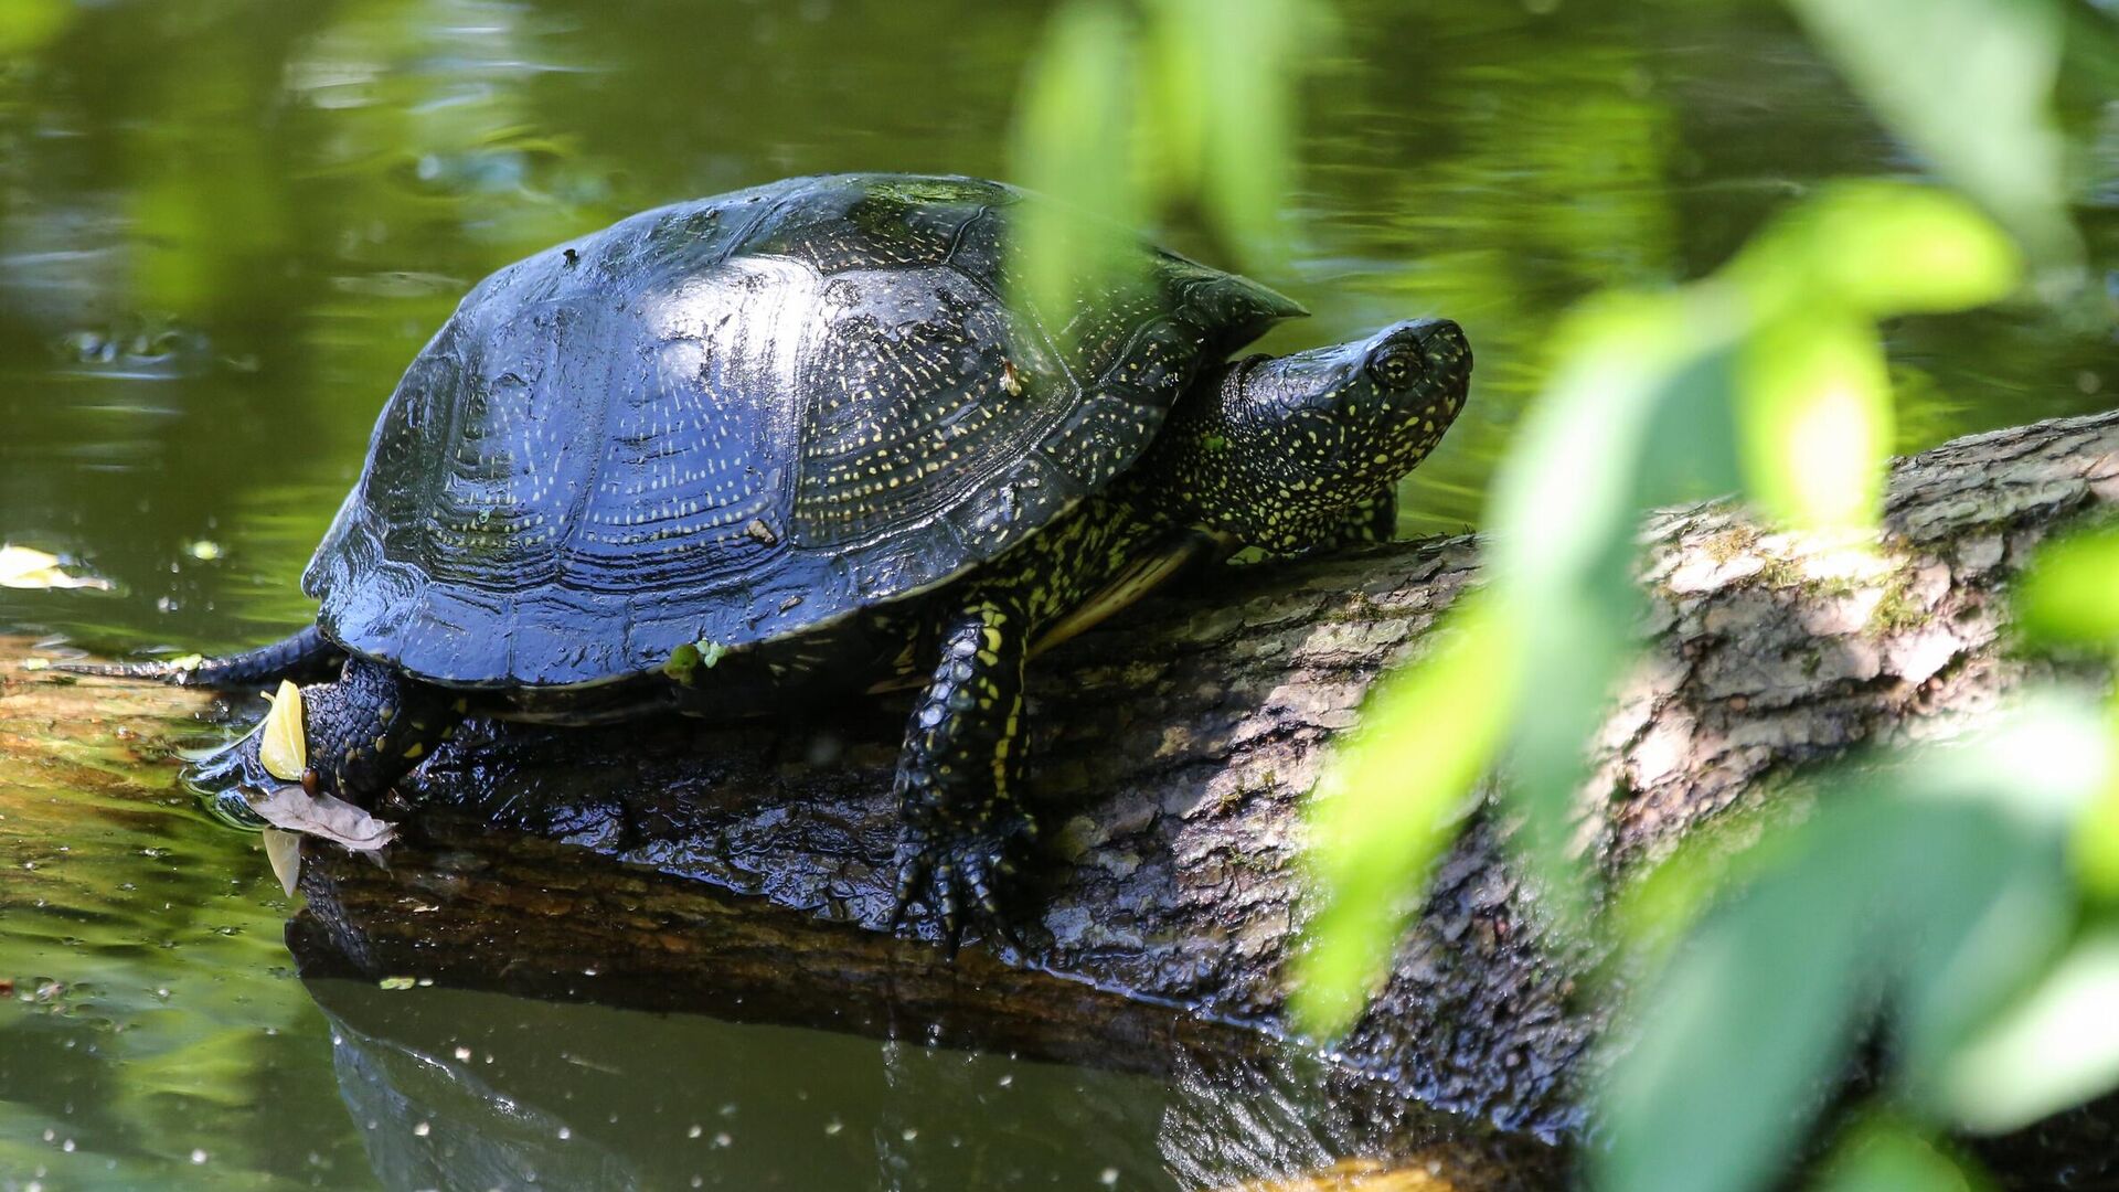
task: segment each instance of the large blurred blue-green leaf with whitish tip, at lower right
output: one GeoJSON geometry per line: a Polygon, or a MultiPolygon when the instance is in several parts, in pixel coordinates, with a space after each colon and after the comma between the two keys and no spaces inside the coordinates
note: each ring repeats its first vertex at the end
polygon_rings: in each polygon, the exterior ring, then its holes
{"type": "Polygon", "coordinates": [[[1848,778],[1634,1007],[1644,1029],[1613,1063],[1598,1184],[1769,1186],[1880,1007],[1884,1086],[1947,1105],[1962,1044],[2066,937],[2055,859],[2106,770],[2096,713],[2049,700],[1848,778]]]}

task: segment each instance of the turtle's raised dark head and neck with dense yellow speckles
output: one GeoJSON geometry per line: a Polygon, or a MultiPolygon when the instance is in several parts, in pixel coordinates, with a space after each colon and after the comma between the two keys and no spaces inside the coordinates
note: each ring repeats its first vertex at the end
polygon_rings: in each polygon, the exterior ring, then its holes
{"type": "Polygon", "coordinates": [[[1447,318],[1235,361],[1157,437],[1159,488],[1187,522],[1244,545],[1331,541],[1435,450],[1468,384],[1471,346],[1447,318]]]}

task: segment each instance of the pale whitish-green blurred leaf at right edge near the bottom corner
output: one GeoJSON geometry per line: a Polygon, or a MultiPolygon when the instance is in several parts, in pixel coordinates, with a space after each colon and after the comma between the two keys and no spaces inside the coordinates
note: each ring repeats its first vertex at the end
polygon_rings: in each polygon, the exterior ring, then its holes
{"type": "Polygon", "coordinates": [[[2038,986],[1960,1048],[1941,1103],[1973,1130],[2015,1130],[2119,1088],[2119,929],[2079,940],[2038,986]]]}

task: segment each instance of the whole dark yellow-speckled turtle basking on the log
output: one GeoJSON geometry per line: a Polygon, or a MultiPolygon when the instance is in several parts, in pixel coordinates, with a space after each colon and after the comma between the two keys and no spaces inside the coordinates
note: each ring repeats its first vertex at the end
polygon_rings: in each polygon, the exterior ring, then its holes
{"type": "MultiPolygon", "coordinates": [[[[466,711],[746,711],[924,674],[898,904],[954,940],[1032,834],[1030,653],[1191,558],[1388,532],[1471,373],[1445,320],[1227,363],[1301,308],[1146,246],[1144,282],[1023,314],[998,297],[1023,201],[797,178],[494,274],[375,426],[303,577],[320,632],[195,679],[343,647],[307,740],[358,800],[466,711]]],[[[225,776],[259,778],[254,740],[225,776]]]]}

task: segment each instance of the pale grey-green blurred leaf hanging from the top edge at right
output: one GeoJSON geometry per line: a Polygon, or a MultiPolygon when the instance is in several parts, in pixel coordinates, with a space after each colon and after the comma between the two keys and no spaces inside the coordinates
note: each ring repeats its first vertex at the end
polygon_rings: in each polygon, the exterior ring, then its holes
{"type": "Polygon", "coordinates": [[[2045,257],[2075,252],[2051,119],[2055,0],[1788,0],[1856,91],[1937,172],[2045,257]]]}

